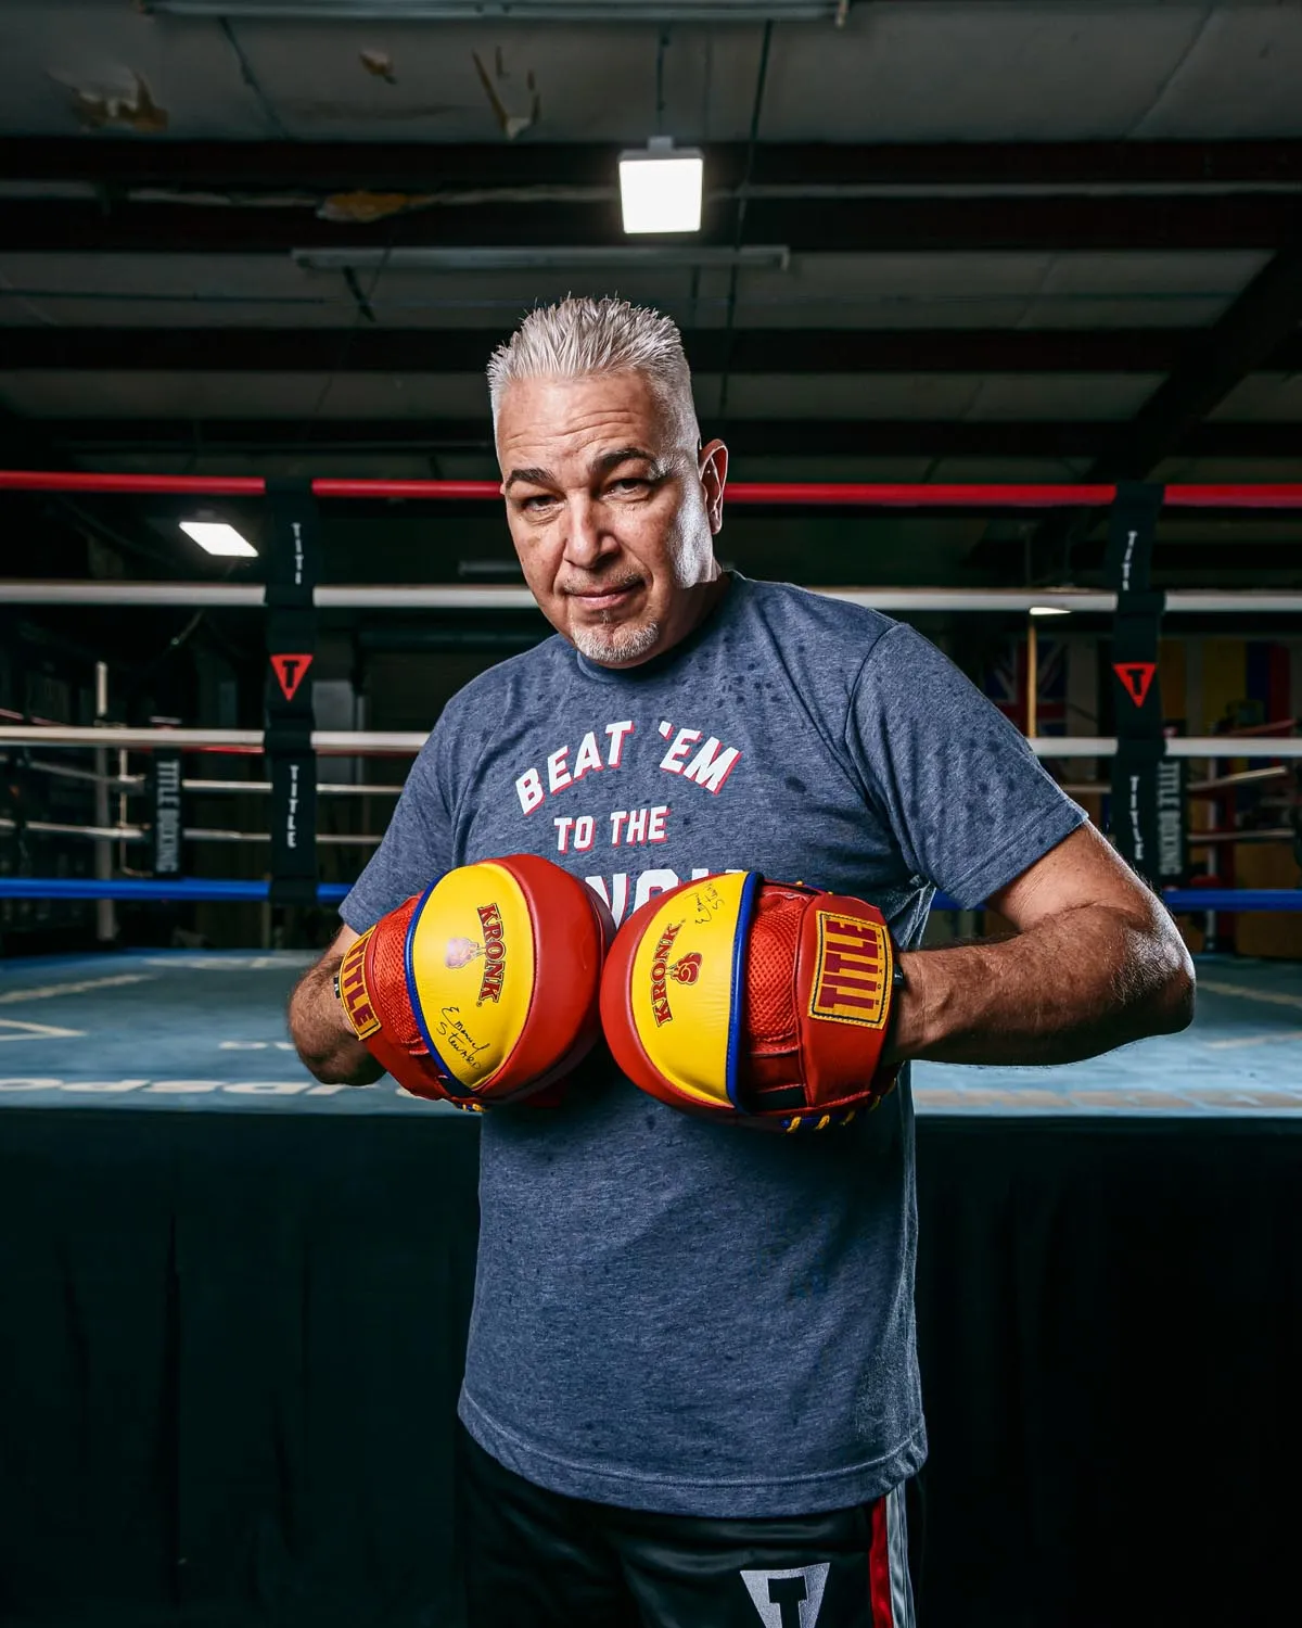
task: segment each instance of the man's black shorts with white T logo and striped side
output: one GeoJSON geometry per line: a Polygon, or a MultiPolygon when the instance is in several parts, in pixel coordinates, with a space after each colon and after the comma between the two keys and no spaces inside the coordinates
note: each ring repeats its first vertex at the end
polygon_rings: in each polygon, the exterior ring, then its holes
{"type": "Polygon", "coordinates": [[[644,1514],[547,1491],[457,1434],[469,1628],[915,1628],[913,1481],[817,1516],[644,1514]]]}

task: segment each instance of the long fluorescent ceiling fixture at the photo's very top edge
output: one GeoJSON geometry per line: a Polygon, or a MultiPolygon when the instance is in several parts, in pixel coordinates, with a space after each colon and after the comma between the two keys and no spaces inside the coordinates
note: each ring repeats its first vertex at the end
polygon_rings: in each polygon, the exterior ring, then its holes
{"type": "Polygon", "coordinates": [[[173,16],[301,23],[838,23],[843,0],[145,0],[173,16]]]}

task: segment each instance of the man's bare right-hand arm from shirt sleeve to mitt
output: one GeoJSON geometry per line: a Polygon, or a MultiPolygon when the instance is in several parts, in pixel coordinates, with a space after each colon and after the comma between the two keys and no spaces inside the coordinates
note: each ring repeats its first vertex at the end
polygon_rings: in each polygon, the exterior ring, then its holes
{"type": "Polygon", "coordinates": [[[900,957],[889,1061],[1076,1063],[1193,1021],[1193,961],[1175,923],[1092,825],[990,905],[1014,938],[900,957]]]}

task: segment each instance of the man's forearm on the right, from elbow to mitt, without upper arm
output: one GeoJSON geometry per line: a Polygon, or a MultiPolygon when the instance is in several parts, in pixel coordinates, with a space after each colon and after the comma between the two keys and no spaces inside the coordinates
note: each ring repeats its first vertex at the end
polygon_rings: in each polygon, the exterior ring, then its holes
{"type": "Polygon", "coordinates": [[[1074,1063],[1193,1017],[1193,965],[1173,925],[1107,905],[1016,938],[905,954],[902,965],[895,1058],[1074,1063]]]}

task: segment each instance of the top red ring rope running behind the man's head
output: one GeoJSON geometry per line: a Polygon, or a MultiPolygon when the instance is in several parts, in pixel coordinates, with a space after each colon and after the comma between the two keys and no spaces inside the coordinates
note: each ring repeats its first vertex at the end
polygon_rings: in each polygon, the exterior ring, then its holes
{"type": "MultiPolygon", "coordinates": [[[[260,475],[111,475],[90,470],[0,469],[0,492],[142,492],[192,497],[262,497],[260,475]]],[[[312,480],[319,498],[496,498],[496,480],[312,480]]],[[[737,482],[732,503],[848,505],[863,508],[1100,508],[1115,485],[934,485],[924,482],[737,482]]],[[[1170,508],[1302,508],[1302,484],[1167,487],[1170,508]]]]}

